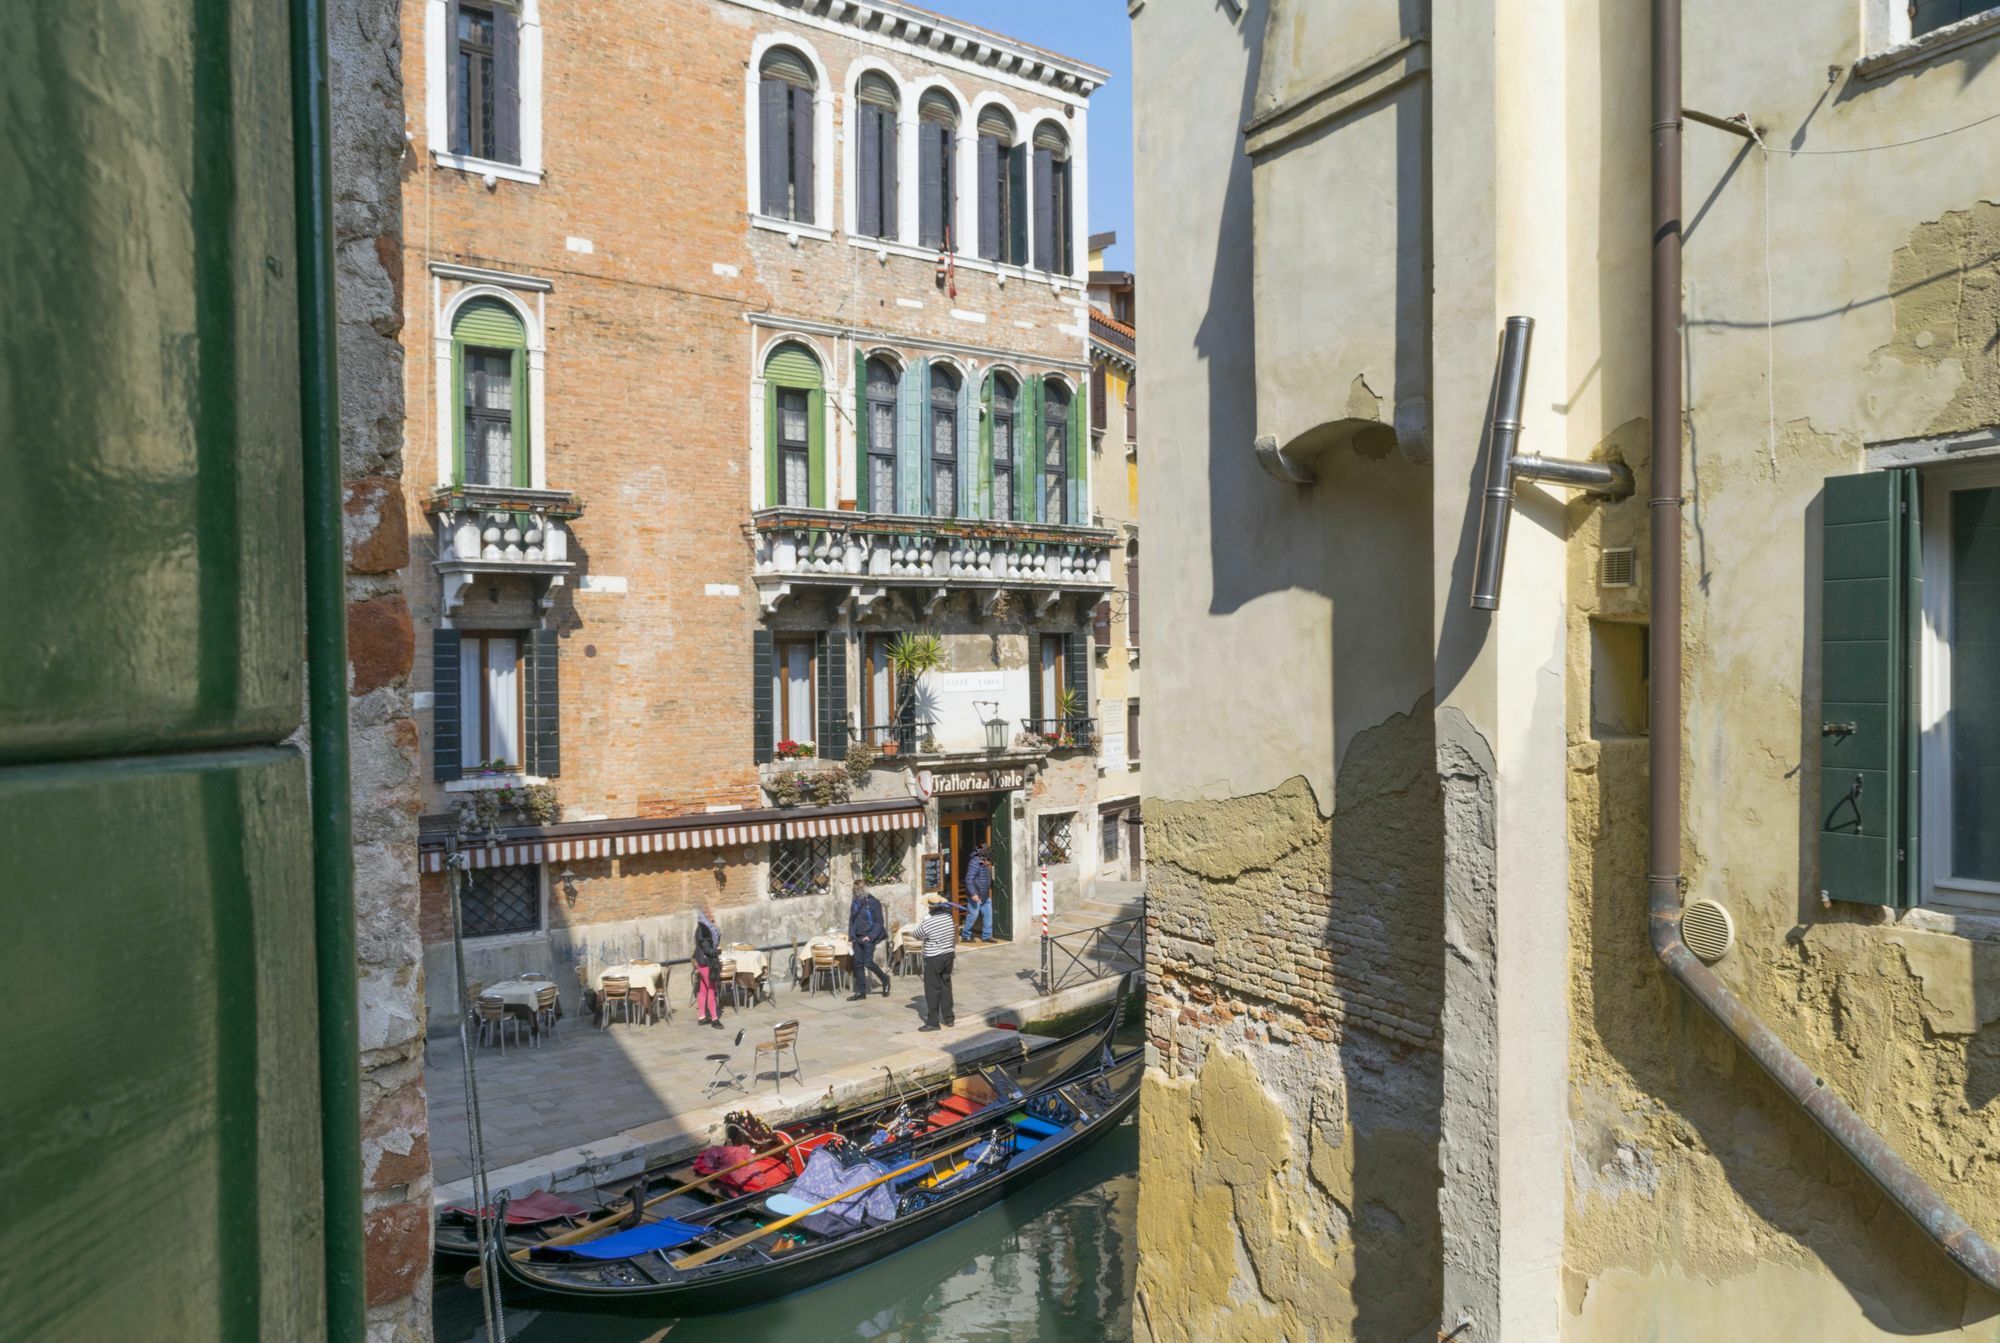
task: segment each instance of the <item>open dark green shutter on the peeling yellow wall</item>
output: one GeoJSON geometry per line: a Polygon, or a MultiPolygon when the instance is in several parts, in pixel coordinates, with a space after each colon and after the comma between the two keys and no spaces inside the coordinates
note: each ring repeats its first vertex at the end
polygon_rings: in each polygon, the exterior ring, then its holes
{"type": "Polygon", "coordinates": [[[1864,905],[1906,903],[1916,871],[1916,496],[1908,470],[1826,482],[1820,889],[1864,905]]]}

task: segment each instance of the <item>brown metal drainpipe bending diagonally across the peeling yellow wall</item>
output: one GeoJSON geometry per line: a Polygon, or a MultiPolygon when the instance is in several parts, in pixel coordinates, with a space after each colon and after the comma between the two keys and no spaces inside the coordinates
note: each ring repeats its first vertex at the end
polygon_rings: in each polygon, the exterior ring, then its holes
{"type": "Polygon", "coordinates": [[[2000,1291],[2000,1253],[1680,939],[1680,0],[1652,0],[1652,949],[1952,1263],[2000,1291]]]}

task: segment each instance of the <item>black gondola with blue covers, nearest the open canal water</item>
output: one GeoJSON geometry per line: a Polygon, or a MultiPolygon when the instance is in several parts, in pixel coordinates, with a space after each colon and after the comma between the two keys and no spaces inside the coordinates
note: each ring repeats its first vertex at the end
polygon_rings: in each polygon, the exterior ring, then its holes
{"type": "Polygon", "coordinates": [[[1098,1067],[1036,1089],[1018,1109],[970,1125],[972,1133],[924,1139],[858,1167],[872,1177],[892,1165],[874,1185],[894,1191],[888,1217],[852,1227],[810,1221],[828,1207],[852,1207],[856,1195],[874,1193],[868,1185],[818,1205],[766,1195],[710,1209],[670,1207],[616,1237],[540,1247],[522,1259],[502,1257],[500,1267],[510,1293],[560,1299],[570,1309],[706,1315],[770,1301],[894,1255],[1086,1151],[1138,1105],[1142,1067],[1142,1049],[1116,1057],[1106,1049],[1098,1067]],[[646,1241],[652,1247],[606,1257],[646,1241]]]}

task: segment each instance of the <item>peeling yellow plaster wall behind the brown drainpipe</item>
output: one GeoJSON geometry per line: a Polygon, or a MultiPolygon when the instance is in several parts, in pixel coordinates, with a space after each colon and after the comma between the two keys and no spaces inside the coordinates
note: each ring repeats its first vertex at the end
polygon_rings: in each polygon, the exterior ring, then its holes
{"type": "MultiPolygon", "coordinates": [[[[1624,460],[1640,488],[1568,508],[1564,1337],[1994,1339],[2000,1301],[1886,1203],[1648,947],[1650,741],[1594,731],[1590,705],[1592,620],[1644,622],[1652,580],[1646,110],[1630,96],[1646,78],[1644,6],[1582,24],[1572,192],[1598,208],[1572,214],[1566,452],[1624,460]],[[1636,588],[1600,588],[1606,546],[1638,550],[1636,588]]],[[[1994,44],[1864,84],[1846,70],[1860,52],[1840,6],[1764,16],[1696,0],[1686,32],[1686,106],[1748,112],[1774,150],[1688,128],[1688,895],[1736,919],[1722,979],[1992,1235],[2000,945],[1930,909],[1822,909],[1816,765],[1824,478],[1864,470],[1872,442],[2000,422],[1992,140],[1830,150],[2000,112],[1994,44]]]]}

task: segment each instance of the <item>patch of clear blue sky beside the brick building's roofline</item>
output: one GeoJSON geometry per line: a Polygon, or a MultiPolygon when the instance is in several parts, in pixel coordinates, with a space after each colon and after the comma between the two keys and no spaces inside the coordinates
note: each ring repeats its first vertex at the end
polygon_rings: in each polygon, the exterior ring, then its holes
{"type": "Polygon", "coordinates": [[[1116,232],[1106,266],[1132,268],[1132,20],[1126,0],[922,0],[980,28],[1110,70],[1090,94],[1090,232],[1116,232]]]}

